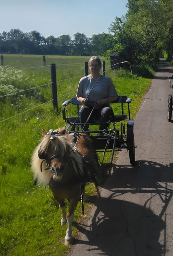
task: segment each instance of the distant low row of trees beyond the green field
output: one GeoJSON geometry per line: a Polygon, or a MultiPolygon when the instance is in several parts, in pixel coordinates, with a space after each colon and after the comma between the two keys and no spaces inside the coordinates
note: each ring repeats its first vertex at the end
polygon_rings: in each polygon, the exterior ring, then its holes
{"type": "Polygon", "coordinates": [[[86,37],[84,33],[47,38],[37,31],[24,33],[19,29],[0,33],[0,53],[91,56],[103,54],[112,47],[110,35],[101,33],[86,37]]]}

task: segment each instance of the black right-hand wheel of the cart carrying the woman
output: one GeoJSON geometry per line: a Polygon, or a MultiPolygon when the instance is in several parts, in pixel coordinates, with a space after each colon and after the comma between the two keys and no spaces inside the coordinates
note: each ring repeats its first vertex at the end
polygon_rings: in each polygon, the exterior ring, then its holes
{"type": "Polygon", "coordinates": [[[131,165],[135,165],[135,146],[133,133],[134,120],[131,119],[127,123],[127,149],[129,150],[129,159],[131,165]]]}

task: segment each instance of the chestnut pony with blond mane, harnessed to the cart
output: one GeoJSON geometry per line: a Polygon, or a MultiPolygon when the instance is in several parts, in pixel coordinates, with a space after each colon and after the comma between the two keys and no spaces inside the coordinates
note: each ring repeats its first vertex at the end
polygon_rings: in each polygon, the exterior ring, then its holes
{"type": "Polygon", "coordinates": [[[66,134],[66,127],[59,130],[42,130],[42,140],[35,148],[31,160],[35,183],[49,185],[53,197],[61,208],[61,226],[67,222],[64,245],[73,242],[72,222],[77,202],[86,182],[101,177],[92,140],[85,133],[66,134]],[[77,141],[77,144],[74,142],[77,141]],[[75,145],[75,147],[74,147],[75,145]],[[69,200],[66,213],[65,198],[69,200]]]}

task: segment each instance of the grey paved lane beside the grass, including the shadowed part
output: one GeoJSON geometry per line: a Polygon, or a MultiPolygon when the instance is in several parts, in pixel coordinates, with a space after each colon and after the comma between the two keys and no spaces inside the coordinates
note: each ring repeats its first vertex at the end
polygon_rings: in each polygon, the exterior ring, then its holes
{"type": "Polygon", "coordinates": [[[168,76],[163,59],[134,124],[136,166],[120,152],[71,256],[173,256],[173,123],[167,122],[168,76]],[[160,99],[161,100],[151,100],[160,99]]]}

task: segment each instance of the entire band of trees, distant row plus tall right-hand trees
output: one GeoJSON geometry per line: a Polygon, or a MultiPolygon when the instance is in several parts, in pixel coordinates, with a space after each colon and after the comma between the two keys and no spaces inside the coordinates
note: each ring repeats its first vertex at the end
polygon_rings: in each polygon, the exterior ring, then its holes
{"type": "Polygon", "coordinates": [[[45,38],[37,31],[12,29],[0,33],[0,53],[109,56],[116,52],[135,67],[155,67],[163,52],[173,59],[172,17],[173,0],[128,0],[127,13],[115,17],[109,33],[45,38]]]}

